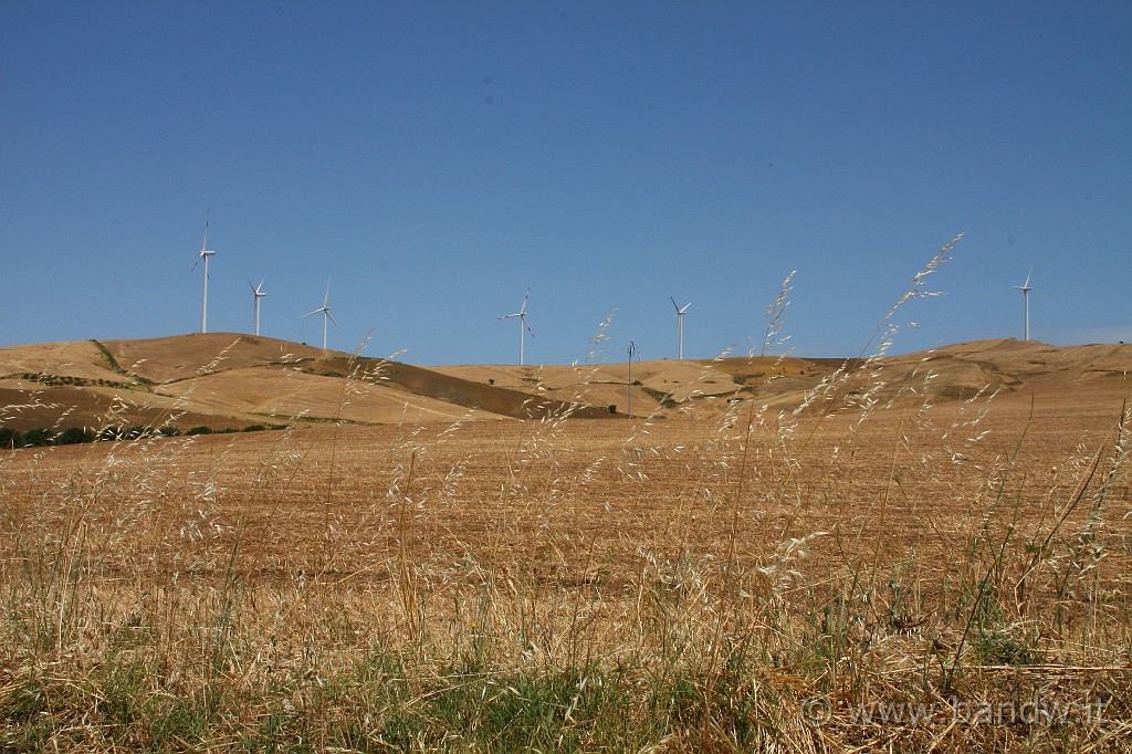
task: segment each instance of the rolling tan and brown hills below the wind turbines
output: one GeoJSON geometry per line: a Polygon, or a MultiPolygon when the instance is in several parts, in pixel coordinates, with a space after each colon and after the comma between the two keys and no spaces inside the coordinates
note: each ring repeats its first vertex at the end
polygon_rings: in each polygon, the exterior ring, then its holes
{"type": "MultiPolygon", "coordinates": [[[[794,409],[822,380],[823,409],[908,396],[962,401],[980,392],[1120,409],[1132,345],[1035,341],[959,343],[883,360],[729,358],[633,365],[633,412],[713,415],[729,402],[794,409]],[[865,396],[865,397],[863,397],[865,396]]],[[[0,349],[0,426],[148,425],[240,429],[254,425],[451,422],[624,417],[625,363],[423,368],[232,333],[76,341],[0,349]]]]}

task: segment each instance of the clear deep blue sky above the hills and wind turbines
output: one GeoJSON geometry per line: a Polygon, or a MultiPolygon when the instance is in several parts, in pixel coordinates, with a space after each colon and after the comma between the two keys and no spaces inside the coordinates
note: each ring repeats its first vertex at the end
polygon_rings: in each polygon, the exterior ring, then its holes
{"type": "Polygon", "coordinates": [[[585,357],[1132,341],[1132,3],[0,3],[0,345],[585,357]],[[751,340],[748,340],[751,339],[751,340]]]}

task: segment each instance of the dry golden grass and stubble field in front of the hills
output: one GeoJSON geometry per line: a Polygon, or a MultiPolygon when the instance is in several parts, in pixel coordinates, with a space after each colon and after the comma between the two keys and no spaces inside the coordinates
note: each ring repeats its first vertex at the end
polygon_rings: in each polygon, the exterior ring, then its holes
{"type": "Polygon", "coordinates": [[[3,745],[1129,751],[1129,418],[927,366],[0,455],[3,745]]]}

